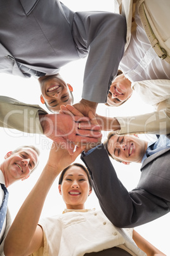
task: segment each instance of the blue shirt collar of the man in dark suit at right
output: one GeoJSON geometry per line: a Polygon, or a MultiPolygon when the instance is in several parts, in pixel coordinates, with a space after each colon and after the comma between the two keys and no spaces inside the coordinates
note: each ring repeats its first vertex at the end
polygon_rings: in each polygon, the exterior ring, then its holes
{"type": "MultiPolygon", "coordinates": [[[[149,155],[153,155],[154,153],[159,152],[160,150],[164,150],[166,148],[170,148],[170,139],[168,139],[164,134],[160,135],[159,139],[154,143],[148,143],[148,147],[152,146],[152,150],[148,150],[149,155]]],[[[148,149],[147,147],[147,149],[148,149]]],[[[143,159],[141,159],[141,163],[143,164],[144,160],[147,159],[147,154],[143,155],[143,159]]]]}

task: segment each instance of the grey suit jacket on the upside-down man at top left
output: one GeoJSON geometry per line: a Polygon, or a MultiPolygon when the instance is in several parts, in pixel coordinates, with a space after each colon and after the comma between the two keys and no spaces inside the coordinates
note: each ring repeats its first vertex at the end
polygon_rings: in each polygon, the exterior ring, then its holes
{"type": "Polygon", "coordinates": [[[58,0],[0,1],[0,73],[25,77],[17,60],[54,75],[88,55],[82,98],[105,103],[125,42],[126,20],[115,13],[74,13],[58,0]]]}

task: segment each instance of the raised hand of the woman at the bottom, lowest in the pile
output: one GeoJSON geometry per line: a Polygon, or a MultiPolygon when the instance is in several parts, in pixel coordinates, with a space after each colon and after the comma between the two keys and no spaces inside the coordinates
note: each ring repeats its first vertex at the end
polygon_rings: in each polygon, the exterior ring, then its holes
{"type": "Polygon", "coordinates": [[[63,149],[61,145],[53,142],[47,162],[49,169],[57,174],[60,173],[65,167],[75,161],[84,148],[86,146],[76,147],[74,153],[70,155],[68,150],[63,149]]]}

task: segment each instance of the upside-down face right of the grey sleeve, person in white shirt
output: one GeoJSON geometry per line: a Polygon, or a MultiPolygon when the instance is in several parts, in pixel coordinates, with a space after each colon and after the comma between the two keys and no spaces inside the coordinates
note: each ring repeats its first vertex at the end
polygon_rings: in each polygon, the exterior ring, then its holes
{"type": "Polygon", "coordinates": [[[131,97],[133,90],[131,89],[131,82],[121,74],[116,76],[107,96],[107,104],[110,106],[120,106],[124,101],[131,97]]]}

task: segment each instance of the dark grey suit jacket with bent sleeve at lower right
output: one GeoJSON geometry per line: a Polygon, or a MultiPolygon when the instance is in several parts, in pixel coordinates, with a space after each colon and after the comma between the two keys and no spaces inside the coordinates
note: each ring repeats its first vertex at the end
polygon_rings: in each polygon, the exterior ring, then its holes
{"type": "Polygon", "coordinates": [[[169,213],[170,148],[148,157],[136,188],[128,192],[117,178],[103,145],[87,156],[96,196],[107,218],[117,227],[136,227],[169,213]]]}

